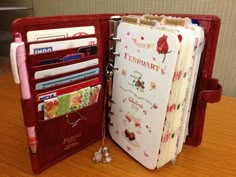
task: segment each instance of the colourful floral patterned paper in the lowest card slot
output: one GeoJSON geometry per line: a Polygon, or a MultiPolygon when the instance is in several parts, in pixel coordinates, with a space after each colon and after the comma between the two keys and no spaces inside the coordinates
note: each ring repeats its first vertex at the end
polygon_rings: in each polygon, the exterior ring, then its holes
{"type": "Polygon", "coordinates": [[[86,87],[56,98],[44,100],[44,119],[52,119],[96,103],[100,89],[101,85],[86,87]]]}

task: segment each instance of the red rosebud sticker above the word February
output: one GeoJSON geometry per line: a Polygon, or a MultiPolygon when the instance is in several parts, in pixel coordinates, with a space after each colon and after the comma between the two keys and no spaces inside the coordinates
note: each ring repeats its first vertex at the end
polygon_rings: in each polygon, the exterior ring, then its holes
{"type": "Polygon", "coordinates": [[[159,54],[164,54],[164,58],[162,60],[162,63],[164,63],[164,61],[166,59],[166,54],[171,52],[171,51],[168,51],[169,50],[169,45],[167,43],[167,38],[168,38],[168,36],[163,35],[157,41],[156,51],[159,54]]]}

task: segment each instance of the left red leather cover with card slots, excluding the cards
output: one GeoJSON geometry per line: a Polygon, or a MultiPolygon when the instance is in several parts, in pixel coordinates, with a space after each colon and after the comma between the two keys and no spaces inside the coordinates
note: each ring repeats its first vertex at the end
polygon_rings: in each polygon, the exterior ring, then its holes
{"type": "MultiPolygon", "coordinates": [[[[19,32],[22,35],[22,39],[25,42],[26,49],[26,64],[30,85],[31,98],[28,100],[21,99],[22,110],[25,127],[35,127],[36,139],[37,139],[37,152],[33,153],[29,148],[30,159],[32,169],[35,173],[40,173],[51,165],[58,161],[70,156],[71,154],[85,148],[86,146],[96,142],[102,137],[101,124],[104,117],[104,101],[105,101],[105,65],[106,57],[103,51],[106,51],[107,34],[101,34],[103,28],[102,21],[107,21],[102,18],[103,16],[67,16],[67,17],[39,17],[39,18],[25,18],[17,19],[12,24],[12,32],[19,32]],[[101,23],[100,23],[101,20],[101,23]],[[36,90],[35,84],[47,81],[49,79],[55,79],[69,74],[78,73],[84,70],[77,70],[73,72],[63,73],[57,76],[49,76],[43,79],[34,79],[35,71],[38,71],[38,66],[35,66],[36,61],[45,57],[55,58],[56,56],[65,56],[66,54],[73,53],[72,50],[64,50],[58,52],[52,52],[49,54],[29,55],[29,45],[27,42],[26,34],[28,31],[53,29],[53,28],[65,28],[74,26],[95,26],[95,35],[92,37],[97,38],[98,53],[94,57],[87,57],[82,59],[89,60],[92,58],[99,58],[99,74],[92,78],[99,78],[101,84],[101,91],[97,103],[79,110],[79,114],[86,117],[86,120],[79,121],[78,125],[72,127],[68,124],[68,118],[66,115],[59,116],[55,119],[44,120],[43,112],[37,111],[38,101],[36,95],[42,92],[50,91],[51,89],[57,89],[59,87],[65,87],[68,85],[76,84],[77,82],[70,82],[61,86],[54,86],[53,88],[36,90]]],[[[108,17],[106,17],[108,19],[108,17]]],[[[106,30],[104,30],[105,32],[106,30]]],[[[71,39],[81,37],[71,37],[71,39]]],[[[57,39],[56,39],[57,40],[57,39]]],[[[56,41],[54,40],[54,41],[56,41]]],[[[106,52],[105,52],[106,53],[106,52]]],[[[76,61],[67,62],[67,65],[74,64],[76,61]]],[[[61,64],[52,64],[53,66],[64,66],[64,62],[61,64]]],[[[52,66],[40,66],[41,69],[49,69],[52,66]]],[[[93,68],[93,67],[90,67],[93,68]]],[[[89,79],[89,78],[87,78],[89,79]]],[[[86,79],[84,79],[86,80],[86,79]]],[[[82,82],[83,80],[79,81],[82,82]]],[[[77,119],[77,113],[72,112],[69,114],[70,120],[77,119]]],[[[29,142],[30,144],[30,142],[29,142]]]]}

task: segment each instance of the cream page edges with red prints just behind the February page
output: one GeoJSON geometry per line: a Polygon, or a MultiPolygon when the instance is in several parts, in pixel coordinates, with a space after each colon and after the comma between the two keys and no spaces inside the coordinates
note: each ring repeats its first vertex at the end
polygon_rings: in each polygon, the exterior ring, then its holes
{"type": "MultiPolygon", "coordinates": [[[[167,27],[171,28],[171,27],[167,27]]],[[[182,27],[173,27],[178,30],[180,50],[178,63],[176,64],[170,99],[168,103],[165,127],[163,131],[160,157],[157,167],[161,167],[170,160],[176,158],[176,144],[179,138],[181,118],[186,106],[185,97],[189,87],[190,68],[192,67],[192,56],[194,50],[194,34],[191,30],[182,27]]]]}

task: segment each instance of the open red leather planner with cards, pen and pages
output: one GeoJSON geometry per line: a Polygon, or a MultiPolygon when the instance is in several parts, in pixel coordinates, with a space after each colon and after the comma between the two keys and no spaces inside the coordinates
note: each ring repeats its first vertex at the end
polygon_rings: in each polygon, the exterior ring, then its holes
{"type": "Polygon", "coordinates": [[[212,78],[219,29],[218,17],[189,14],[15,20],[11,64],[33,171],[100,140],[104,127],[148,169],[199,145],[206,104],[222,93],[212,78]]]}

